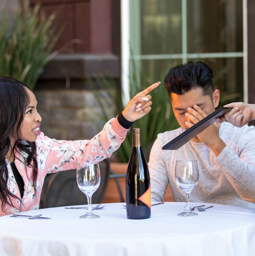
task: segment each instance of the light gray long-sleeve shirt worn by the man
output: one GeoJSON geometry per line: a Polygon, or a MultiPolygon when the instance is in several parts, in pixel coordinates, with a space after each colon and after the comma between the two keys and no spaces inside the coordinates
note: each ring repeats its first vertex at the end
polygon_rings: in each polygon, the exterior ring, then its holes
{"type": "Polygon", "coordinates": [[[190,194],[190,202],[234,205],[255,210],[255,128],[242,128],[223,122],[220,138],[226,147],[219,156],[202,142],[190,140],[178,150],[161,148],[181,134],[178,128],[158,134],[149,158],[152,201],[162,201],[168,183],[176,202],[185,196],[175,181],[176,160],[196,159],[199,182],[190,194]]]}

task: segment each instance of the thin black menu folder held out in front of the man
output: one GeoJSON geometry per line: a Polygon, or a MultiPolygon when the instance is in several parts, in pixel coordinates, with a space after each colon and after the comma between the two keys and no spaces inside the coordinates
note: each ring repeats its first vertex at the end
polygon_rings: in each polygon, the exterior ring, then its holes
{"type": "Polygon", "coordinates": [[[221,107],[211,113],[209,116],[205,117],[182,134],[178,135],[176,138],[168,142],[162,147],[163,150],[176,150],[182,147],[189,140],[194,138],[201,131],[206,129],[208,126],[213,124],[216,121],[217,117],[224,116],[225,113],[229,112],[232,108],[221,107]]]}

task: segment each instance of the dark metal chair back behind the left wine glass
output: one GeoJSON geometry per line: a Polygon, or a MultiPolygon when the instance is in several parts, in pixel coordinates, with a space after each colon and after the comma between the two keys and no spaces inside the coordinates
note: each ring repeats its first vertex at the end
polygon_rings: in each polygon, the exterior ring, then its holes
{"type": "MultiPolygon", "coordinates": [[[[103,201],[110,178],[109,160],[104,159],[99,165],[101,183],[92,196],[93,204],[103,201]]],[[[87,204],[87,198],[79,190],[76,183],[76,170],[59,171],[46,175],[41,193],[40,208],[83,204],[87,204]]]]}

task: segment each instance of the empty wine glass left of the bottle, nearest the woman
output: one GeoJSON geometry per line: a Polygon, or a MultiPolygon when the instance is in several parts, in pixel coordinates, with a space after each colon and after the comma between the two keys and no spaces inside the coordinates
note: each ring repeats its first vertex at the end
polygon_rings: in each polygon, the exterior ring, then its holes
{"type": "Polygon", "coordinates": [[[91,197],[100,185],[99,164],[95,162],[85,162],[77,164],[76,180],[79,189],[87,196],[88,211],[80,218],[95,219],[100,216],[95,215],[91,210],[91,197]]]}

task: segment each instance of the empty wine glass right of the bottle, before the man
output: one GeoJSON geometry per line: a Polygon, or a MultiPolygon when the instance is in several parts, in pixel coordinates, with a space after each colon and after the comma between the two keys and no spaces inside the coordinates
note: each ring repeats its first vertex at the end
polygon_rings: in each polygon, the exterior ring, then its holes
{"type": "Polygon", "coordinates": [[[198,183],[198,166],[197,160],[177,160],[175,166],[175,180],[179,188],[185,193],[186,205],[185,210],[178,216],[193,216],[198,215],[190,210],[189,200],[190,192],[198,183]]]}

